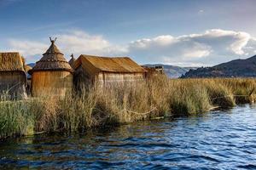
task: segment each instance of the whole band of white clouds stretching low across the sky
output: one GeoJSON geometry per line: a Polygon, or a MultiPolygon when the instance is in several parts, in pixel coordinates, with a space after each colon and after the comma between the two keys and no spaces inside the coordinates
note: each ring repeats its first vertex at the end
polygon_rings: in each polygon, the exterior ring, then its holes
{"type": "MultiPolygon", "coordinates": [[[[256,53],[256,39],[243,31],[207,30],[201,34],[179,37],[160,35],[119,45],[100,35],[84,31],[68,31],[55,35],[57,45],[66,54],[128,55],[140,64],[214,65],[256,53]]],[[[49,42],[10,39],[9,47],[26,56],[28,61],[39,59],[49,42]]]]}

